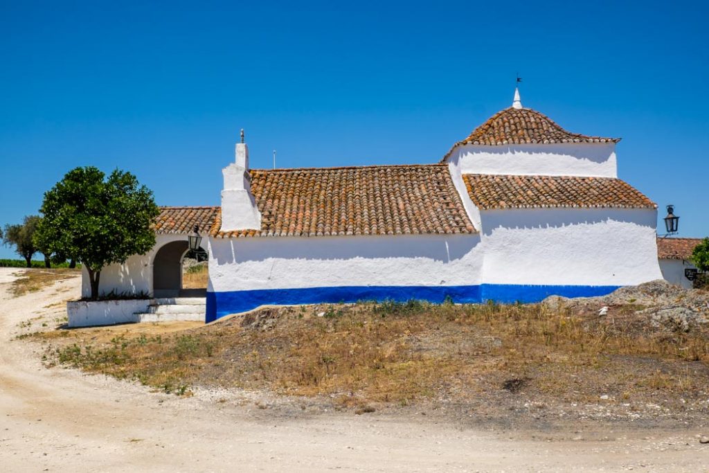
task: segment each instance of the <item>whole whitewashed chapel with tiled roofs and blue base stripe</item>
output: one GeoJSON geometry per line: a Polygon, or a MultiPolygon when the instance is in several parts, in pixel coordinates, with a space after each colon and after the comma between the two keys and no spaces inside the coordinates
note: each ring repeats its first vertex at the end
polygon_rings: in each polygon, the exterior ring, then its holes
{"type": "Polygon", "coordinates": [[[657,206],[618,179],[616,143],[569,133],[516,91],[436,164],[250,169],[238,143],[221,206],[164,208],[155,251],[106,268],[101,291],[179,294],[197,224],[206,321],[263,304],[607,294],[662,277],[657,206]]]}

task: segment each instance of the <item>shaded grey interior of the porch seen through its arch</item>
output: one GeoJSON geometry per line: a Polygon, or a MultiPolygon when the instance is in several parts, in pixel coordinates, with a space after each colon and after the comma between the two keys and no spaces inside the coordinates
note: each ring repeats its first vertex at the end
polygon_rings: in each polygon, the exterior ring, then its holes
{"type": "Polygon", "coordinates": [[[197,297],[206,294],[203,288],[184,288],[182,284],[184,257],[189,252],[186,240],[162,245],[152,262],[152,292],[154,297],[197,297]]]}

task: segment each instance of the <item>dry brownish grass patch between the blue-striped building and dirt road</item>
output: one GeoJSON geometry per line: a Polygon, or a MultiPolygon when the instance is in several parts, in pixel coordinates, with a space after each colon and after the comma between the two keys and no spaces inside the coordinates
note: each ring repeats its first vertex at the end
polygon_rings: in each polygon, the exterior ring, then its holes
{"type": "Polygon", "coordinates": [[[632,316],[574,316],[543,305],[303,306],[171,333],[135,327],[110,340],[110,331],[39,336],[55,343],[49,356],[62,364],[166,392],[236,386],[325,395],[359,410],[495,402],[520,391],[577,402],[599,393],[639,401],[709,391],[705,333],[664,333],[632,316]]]}

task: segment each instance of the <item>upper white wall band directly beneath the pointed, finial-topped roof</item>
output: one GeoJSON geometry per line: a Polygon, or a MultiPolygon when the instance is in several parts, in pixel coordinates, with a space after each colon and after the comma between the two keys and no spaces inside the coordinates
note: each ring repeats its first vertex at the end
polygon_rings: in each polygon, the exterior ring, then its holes
{"type": "Polygon", "coordinates": [[[447,162],[462,174],[618,177],[615,143],[459,145],[447,162]]]}

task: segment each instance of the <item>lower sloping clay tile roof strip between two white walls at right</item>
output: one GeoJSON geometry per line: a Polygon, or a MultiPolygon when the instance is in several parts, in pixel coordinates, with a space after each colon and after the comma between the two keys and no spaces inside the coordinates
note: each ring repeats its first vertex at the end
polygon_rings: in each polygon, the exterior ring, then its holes
{"type": "Polygon", "coordinates": [[[510,176],[464,174],[474,204],[500,208],[604,207],[657,208],[620,179],[610,177],[510,176]]]}

